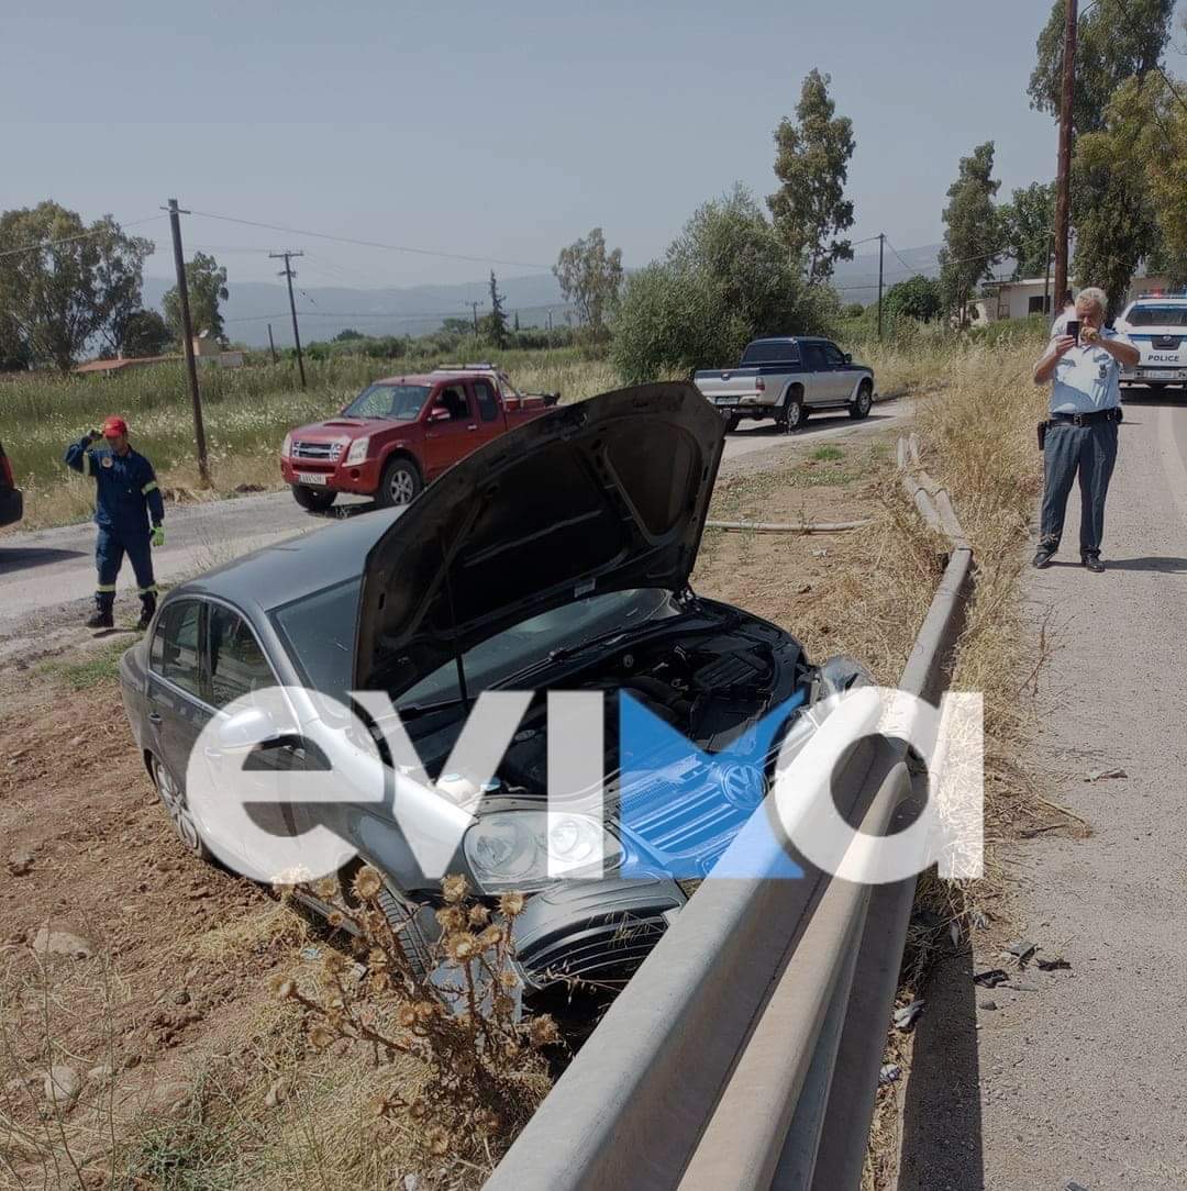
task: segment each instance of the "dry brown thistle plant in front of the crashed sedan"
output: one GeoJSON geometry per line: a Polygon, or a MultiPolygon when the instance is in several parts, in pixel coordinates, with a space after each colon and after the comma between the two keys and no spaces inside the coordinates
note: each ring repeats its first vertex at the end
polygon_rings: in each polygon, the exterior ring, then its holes
{"type": "Polygon", "coordinates": [[[358,962],[328,952],[315,989],[297,977],[275,977],[274,994],[303,1008],[317,1049],[346,1039],[363,1045],[377,1065],[400,1055],[424,1065],[423,1083],[373,1099],[379,1129],[410,1129],[435,1156],[490,1164],[547,1092],[541,1052],[560,1042],[552,1017],[520,1014],[511,923],[523,894],[504,893],[492,911],[470,896],[465,877],[446,877],[436,911],[441,937],[422,974],[402,939],[404,925],[384,912],[377,869],[359,869],[350,898],[336,878],[311,891],[333,908],[330,925],[353,935],[358,962]]]}

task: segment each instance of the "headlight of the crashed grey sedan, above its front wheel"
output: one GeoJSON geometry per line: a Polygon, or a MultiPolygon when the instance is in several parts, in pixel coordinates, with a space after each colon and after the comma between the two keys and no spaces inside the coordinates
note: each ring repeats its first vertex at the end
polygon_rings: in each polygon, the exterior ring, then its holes
{"type": "Polygon", "coordinates": [[[479,816],[462,840],[474,879],[487,893],[542,888],[558,877],[603,875],[622,862],[622,844],[589,815],[495,811],[479,816]],[[548,872],[552,850],[554,872],[548,872]]]}

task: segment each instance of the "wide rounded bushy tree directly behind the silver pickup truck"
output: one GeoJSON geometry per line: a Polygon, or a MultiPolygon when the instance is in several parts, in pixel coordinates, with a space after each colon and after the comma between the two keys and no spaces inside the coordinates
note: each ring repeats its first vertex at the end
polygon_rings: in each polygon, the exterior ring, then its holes
{"type": "Polygon", "coordinates": [[[610,358],[627,384],[690,375],[737,361],[763,335],[827,331],[839,311],[835,292],[807,285],[753,197],[735,187],[627,278],[610,358]]]}

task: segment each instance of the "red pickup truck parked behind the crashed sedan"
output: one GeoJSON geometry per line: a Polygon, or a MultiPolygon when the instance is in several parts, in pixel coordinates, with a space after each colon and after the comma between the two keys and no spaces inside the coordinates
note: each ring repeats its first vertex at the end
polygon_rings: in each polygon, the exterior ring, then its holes
{"type": "Polygon", "coordinates": [[[559,393],[518,393],[492,364],[437,368],[368,385],[336,418],[285,435],[280,473],[303,509],[340,492],[406,505],[483,443],[539,417],[559,393]]]}

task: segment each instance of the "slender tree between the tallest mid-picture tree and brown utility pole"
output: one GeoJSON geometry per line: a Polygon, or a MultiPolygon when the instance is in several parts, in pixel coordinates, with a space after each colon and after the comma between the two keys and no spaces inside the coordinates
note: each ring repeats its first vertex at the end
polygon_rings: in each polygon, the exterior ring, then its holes
{"type": "Polygon", "coordinates": [[[962,157],[956,181],[947,188],[944,247],[939,251],[940,291],[947,310],[962,324],[974,288],[1001,256],[994,195],[1001,182],[993,177],[994,144],[987,141],[962,157]]]}

